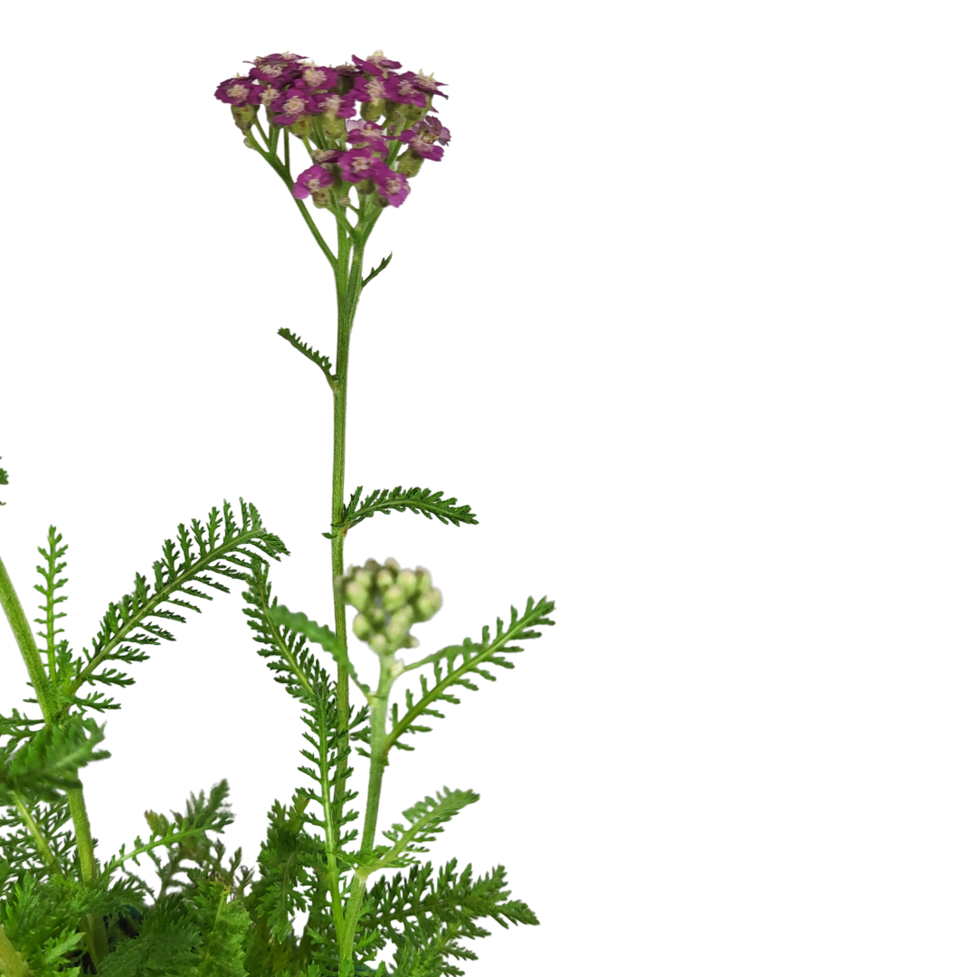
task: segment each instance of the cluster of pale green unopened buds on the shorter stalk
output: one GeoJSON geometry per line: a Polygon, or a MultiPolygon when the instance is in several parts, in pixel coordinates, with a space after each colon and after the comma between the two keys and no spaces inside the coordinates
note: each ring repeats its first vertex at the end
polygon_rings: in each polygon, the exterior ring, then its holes
{"type": "Polygon", "coordinates": [[[353,618],[353,633],[377,655],[416,648],[410,626],[441,610],[441,591],[431,586],[431,574],[422,567],[401,570],[394,559],[383,566],[367,560],[362,567],[348,567],[336,577],[336,589],[344,603],[360,612],[353,618]]]}

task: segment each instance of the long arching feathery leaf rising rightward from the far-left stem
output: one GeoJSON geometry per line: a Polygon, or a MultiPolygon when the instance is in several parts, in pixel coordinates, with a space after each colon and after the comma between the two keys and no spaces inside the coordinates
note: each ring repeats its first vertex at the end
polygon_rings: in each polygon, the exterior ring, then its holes
{"type": "Polygon", "coordinates": [[[100,711],[118,708],[102,693],[81,699],[77,692],[86,682],[131,685],[134,679],[120,669],[107,668],[106,663],[145,661],[149,656],[144,648],[174,640],[160,621],[185,623],[182,612],[200,612],[194,601],[213,599],[202,588],[230,593],[218,577],[247,579],[255,559],[277,560],[287,552],[284,543],[264,528],[258,510],[243,499],[239,525],[228,502],[222,509],[211,509],[204,522],[194,519],[190,529],[181,524],[177,542],[167,539],[163,543],[163,558],[152,565],[152,582],[137,573],[135,590],[118,603],[109,604],[92,650],[83,650],[84,663],[76,659],[75,673],[63,684],[63,711],[71,704],[100,711]]]}

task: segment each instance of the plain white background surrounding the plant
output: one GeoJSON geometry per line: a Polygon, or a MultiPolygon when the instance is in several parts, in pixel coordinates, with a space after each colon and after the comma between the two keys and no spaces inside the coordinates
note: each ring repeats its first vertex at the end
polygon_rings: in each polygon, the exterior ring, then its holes
{"type": "MultiPolygon", "coordinates": [[[[399,754],[381,821],[482,801],[539,928],[472,975],[972,974],[974,21],[965,3],[94,2],[4,15],[0,552],[50,522],[76,647],[176,525],[243,495],[327,619],[327,267],[216,83],[382,46],[453,139],[384,215],[353,339],[348,556],[429,567],[420,653],[529,594],[558,624],[399,754]]],[[[229,596],[135,666],[86,773],[107,855],[227,777],[298,785],[229,596]]],[[[25,678],[0,634],[0,707],[25,678]]],[[[368,653],[361,666],[370,667],[368,653]]]]}

